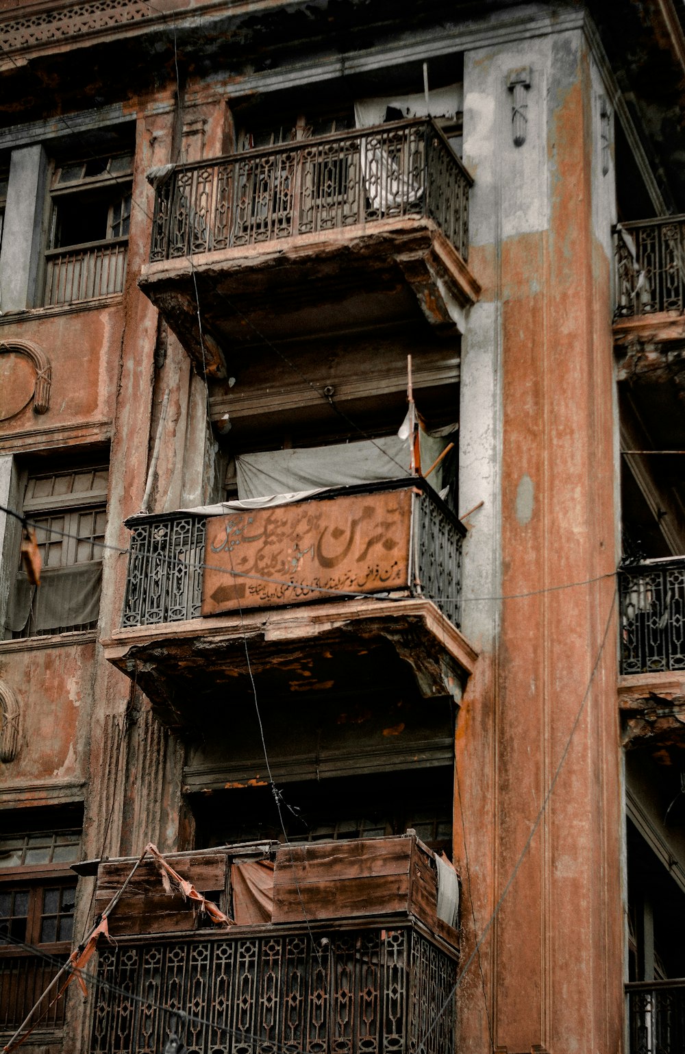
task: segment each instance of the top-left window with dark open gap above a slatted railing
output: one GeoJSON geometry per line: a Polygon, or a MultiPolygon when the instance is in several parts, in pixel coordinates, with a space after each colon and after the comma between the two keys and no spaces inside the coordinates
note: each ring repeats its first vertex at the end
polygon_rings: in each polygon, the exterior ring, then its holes
{"type": "Polygon", "coordinates": [[[55,168],[45,261],[45,304],[75,304],[123,289],[133,154],[55,168]]]}

